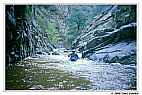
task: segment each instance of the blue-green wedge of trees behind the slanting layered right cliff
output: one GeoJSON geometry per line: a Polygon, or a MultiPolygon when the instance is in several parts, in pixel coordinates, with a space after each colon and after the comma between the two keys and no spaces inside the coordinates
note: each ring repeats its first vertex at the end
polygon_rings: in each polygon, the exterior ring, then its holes
{"type": "Polygon", "coordinates": [[[69,6],[70,15],[67,17],[67,25],[69,27],[67,33],[67,40],[70,45],[74,39],[82,33],[87,24],[91,22],[94,17],[100,14],[108,5],[85,5],[85,6],[69,6]]]}

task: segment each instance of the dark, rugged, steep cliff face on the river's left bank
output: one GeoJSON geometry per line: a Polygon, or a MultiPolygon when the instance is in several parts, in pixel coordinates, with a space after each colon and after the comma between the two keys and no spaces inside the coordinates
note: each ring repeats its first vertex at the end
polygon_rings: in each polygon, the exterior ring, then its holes
{"type": "Polygon", "coordinates": [[[6,64],[52,51],[47,38],[35,20],[33,6],[6,6],[6,64]]]}

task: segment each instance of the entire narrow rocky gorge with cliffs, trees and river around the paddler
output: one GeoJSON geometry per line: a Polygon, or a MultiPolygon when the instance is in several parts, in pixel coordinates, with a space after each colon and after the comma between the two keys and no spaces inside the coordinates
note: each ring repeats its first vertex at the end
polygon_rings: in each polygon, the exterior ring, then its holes
{"type": "Polygon", "coordinates": [[[136,5],[5,9],[6,90],[137,89],[136,5]]]}

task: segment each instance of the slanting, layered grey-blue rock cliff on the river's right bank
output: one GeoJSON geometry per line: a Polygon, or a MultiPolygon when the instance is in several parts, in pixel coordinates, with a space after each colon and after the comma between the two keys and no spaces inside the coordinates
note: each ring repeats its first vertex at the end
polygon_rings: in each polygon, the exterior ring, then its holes
{"type": "Polygon", "coordinates": [[[136,6],[111,6],[82,31],[74,47],[83,57],[104,62],[136,63],[136,6]]]}

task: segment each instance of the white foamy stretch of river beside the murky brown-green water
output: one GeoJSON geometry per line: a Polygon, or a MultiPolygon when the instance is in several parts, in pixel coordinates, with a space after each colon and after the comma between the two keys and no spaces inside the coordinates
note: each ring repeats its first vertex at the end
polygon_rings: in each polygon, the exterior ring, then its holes
{"type": "Polygon", "coordinates": [[[79,59],[75,62],[68,61],[69,58],[64,55],[47,55],[43,59],[59,60],[59,62],[38,64],[44,69],[59,69],[73,74],[75,77],[84,78],[92,82],[93,89],[100,90],[125,90],[131,85],[129,81],[134,77],[131,68],[134,65],[121,65],[120,63],[99,63],[88,59],[79,59]],[[131,67],[126,70],[126,67],[131,67]],[[132,73],[128,73],[132,71],[132,73]]]}

